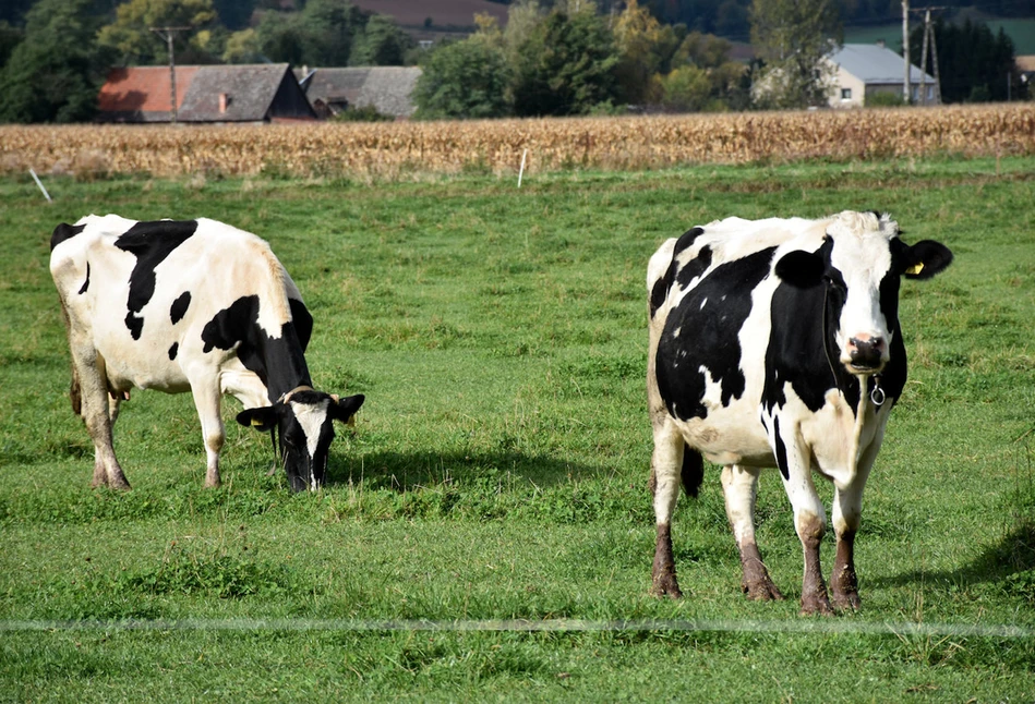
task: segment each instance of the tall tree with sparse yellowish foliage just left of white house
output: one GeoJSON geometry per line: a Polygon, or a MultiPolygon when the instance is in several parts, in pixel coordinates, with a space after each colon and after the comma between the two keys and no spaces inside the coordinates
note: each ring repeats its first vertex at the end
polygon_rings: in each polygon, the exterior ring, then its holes
{"type": "Polygon", "coordinates": [[[833,0],[753,0],[751,44],[765,59],[762,102],[804,108],[826,102],[821,60],[844,29],[833,0]]]}

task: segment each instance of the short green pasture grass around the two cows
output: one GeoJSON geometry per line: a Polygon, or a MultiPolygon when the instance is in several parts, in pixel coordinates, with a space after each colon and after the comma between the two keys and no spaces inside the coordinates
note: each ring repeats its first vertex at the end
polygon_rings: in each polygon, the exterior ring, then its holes
{"type": "MultiPolygon", "coordinates": [[[[28,179],[0,181],[0,699],[1030,701],[1033,174],[1003,159],[568,172],[520,190],[479,174],[51,181],[53,206],[28,179]],[[797,615],[775,473],[759,539],[789,598],[745,600],[718,468],[676,511],[687,598],[654,599],[647,260],[695,223],[845,208],[889,210],[907,241],[956,255],[903,284],[911,380],[867,487],[864,608],[797,615]],[[88,487],[48,241],[109,211],[270,242],[315,318],[315,384],[368,398],[321,493],[266,476],[269,439],[233,423],[232,399],[225,485],[203,489],[193,403],[154,391],[116,428],[133,490],[88,487]],[[714,628],[341,628],[502,619],[714,628]],[[27,630],[79,620],[107,626],[27,630]],[[973,630],[1002,626],[1028,635],[973,630]]],[[[823,559],[829,572],[831,539],[823,559]]]]}

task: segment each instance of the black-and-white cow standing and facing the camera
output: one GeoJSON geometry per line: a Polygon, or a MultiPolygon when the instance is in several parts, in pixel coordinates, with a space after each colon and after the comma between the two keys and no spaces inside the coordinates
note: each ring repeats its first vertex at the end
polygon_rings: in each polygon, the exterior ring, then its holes
{"type": "Polygon", "coordinates": [[[834,485],[838,608],[858,608],[853,545],[863,487],[906,378],[899,282],[952,254],[899,239],[887,216],[730,218],[671,239],[651,257],[648,399],[658,529],[653,592],[681,597],[671,518],[696,496],[702,457],[722,487],[753,599],[780,599],[755,542],[759,470],[779,468],[805,553],[804,614],[831,612],[819,566],[826,531],[813,470],[834,485]]]}

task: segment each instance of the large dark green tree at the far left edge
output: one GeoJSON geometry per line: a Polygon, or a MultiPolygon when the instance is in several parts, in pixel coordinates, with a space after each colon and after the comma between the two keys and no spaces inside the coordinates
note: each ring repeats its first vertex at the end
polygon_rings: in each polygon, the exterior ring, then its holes
{"type": "Polygon", "coordinates": [[[0,71],[0,122],[81,122],[97,110],[106,56],[94,52],[91,0],[39,0],[0,71]]]}

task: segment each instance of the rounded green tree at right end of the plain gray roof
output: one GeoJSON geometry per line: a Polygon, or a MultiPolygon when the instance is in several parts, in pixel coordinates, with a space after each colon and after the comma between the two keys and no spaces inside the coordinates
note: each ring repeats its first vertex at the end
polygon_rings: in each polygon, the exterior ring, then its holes
{"type": "Polygon", "coordinates": [[[510,111],[502,48],[474,35],[429,57],[413,88],[417,119],[498,118],[510,111]]]}

